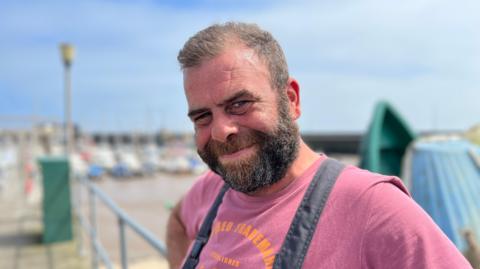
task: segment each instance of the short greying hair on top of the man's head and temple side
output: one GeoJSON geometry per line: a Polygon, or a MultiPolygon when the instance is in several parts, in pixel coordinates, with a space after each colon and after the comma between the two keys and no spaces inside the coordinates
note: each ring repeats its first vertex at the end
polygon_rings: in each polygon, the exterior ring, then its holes
{"type": "Polygon", "coordinates": [[[288,66],[280,44],[269,32],[256,24],[227,22],[213,24],[190,37],[178,53],[182,70],[199,66],[223,52],[234,42],[242,42],[255,51],[270,73],[270,84],[278,91],[288,82],[288,66]]]}

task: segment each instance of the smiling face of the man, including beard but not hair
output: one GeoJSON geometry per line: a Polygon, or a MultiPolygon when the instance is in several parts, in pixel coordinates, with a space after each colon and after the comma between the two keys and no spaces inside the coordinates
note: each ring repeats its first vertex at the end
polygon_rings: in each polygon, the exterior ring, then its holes
{"type": "Polygon", "coordinates": [[[229,48],[186,69],[184,86],[199,155],[232,188],[252,193],[285,175],[298,130],[253,50],[229,48]]]}

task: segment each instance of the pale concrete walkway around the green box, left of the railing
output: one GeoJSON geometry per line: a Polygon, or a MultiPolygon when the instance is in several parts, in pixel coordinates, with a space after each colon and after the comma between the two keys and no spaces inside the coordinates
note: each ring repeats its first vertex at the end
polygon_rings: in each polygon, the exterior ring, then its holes
{"type": "MultiPolygon", "coordinates": [[[[14,171],[0,175],[0,269],[86,269],[74,241],[43,244],[38,186],[26,191],[14,171]]],[[[38,184],[33,182],[33,184],[38,184]]]]}

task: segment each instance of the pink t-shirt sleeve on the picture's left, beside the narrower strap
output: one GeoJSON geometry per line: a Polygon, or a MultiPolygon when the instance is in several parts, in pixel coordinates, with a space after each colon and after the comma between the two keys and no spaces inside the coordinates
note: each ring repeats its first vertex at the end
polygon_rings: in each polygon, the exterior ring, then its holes
{"type": "Polygon", "coordinates": [[[195,239],[203,219],[217,197],[222,184],[223,181],[218,176],[213,172],[207,172],[198,178],[192,188],[183,197],[180,219],[185,225],[187,236],[190,240],[195,239]]]}

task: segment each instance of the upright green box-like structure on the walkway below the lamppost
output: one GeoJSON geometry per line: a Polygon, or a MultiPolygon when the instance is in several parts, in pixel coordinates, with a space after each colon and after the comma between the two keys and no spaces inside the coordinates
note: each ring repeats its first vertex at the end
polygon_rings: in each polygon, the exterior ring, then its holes
{"type": "Polygon", "coordinates": [[[43,178],[43,243],[72,239],[70,173],[67,158],[39,159],[43,178]]]}

